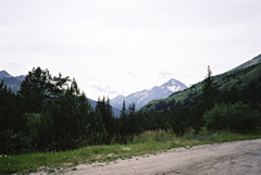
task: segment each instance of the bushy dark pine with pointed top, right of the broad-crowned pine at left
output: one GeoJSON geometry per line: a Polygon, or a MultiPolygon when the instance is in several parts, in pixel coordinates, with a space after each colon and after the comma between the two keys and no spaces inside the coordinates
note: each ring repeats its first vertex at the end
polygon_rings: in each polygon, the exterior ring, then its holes
{"type": "Polygon", "coordinates": [[[49,138],[46,142],[51,149],[102,143],[107,136],[101,116],[92,110],[75,79],[64,93],[45,108],[42,117],[46,126],[42,134],[49,138]]]}

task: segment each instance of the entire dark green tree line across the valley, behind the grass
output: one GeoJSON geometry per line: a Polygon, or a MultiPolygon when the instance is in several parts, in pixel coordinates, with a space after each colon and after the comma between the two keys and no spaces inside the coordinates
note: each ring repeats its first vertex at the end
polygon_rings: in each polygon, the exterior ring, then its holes
{"type": "Polygon", "coordinates": [[[0,84],[0,153],[70,150],[90,145],[125,143],[145,130],[165,129],[183,135],[229,129],[248,132],[260,126],[261,78],[247,88],[220,91],[211,77],[202,93],[171,107],[159,103],[160,112],[136,111],[125,105],[113,116],[109,98],[98,99],[91,108],[75,79],[34,67],[17,93],[0,84]]]}

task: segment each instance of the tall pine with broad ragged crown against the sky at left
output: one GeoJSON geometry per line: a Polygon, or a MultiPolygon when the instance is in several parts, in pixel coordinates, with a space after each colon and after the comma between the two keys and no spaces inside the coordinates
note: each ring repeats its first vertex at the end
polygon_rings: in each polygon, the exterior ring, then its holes
{"type": "Polygon", "coordinates": [[[34,67],[22,82],[18,91],[24,111],[40,113],[47,102],[64,91],[67,82],[70,82],[69,77],[63,78],[61,74],[52,78],[48,70],[34,67]]]}

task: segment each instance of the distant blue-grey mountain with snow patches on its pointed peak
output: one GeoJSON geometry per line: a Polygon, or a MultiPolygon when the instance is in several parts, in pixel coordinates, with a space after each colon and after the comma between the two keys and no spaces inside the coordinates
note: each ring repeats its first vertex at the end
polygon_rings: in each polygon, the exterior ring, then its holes
{"type": "Polygon", "coordinates": [[[120,95],[111,99],[111,105],[116,109],[122,109],[123,101],[125,100],[126,108],[128,108],[129,104],[135,103],[136,109],[139,110],[151,100],[166,98],[173,92],[181,91],[186,88],[187,87],[185,84],[176,79],[170,79],[165,84],[161,86],[154,86],[152,89],[149,90],[145,89],[141,91],[137,91],[127,97],[120,95]]]}

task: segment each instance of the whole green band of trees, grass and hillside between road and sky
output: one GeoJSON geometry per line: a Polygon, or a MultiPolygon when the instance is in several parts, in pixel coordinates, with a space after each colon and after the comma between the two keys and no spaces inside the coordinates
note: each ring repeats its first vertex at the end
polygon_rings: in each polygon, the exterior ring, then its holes
{"type": "Polygon", "coordinates": [[[75,79],[33,68],[17,93],[0,84],[0,172],[63,171],[176,147],[260,138],[246,135],[261,129],[260,72],[257,63],[212,77],[209,66],[203,82],[141,111],[123,102],[115,117],[109,98],[99,98],[92,109],[75,79]]]}

